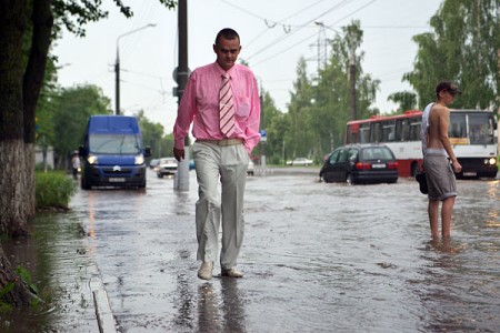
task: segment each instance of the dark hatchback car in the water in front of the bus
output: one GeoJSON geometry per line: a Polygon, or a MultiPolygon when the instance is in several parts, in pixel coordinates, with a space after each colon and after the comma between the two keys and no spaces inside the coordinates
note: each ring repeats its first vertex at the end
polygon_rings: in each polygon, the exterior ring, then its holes
{"type": "Polygon", "coordinates": [[[327,183],[396,183],[398,162],[384,144],[348,144],[324,159],[319,175],[327,183]]]}

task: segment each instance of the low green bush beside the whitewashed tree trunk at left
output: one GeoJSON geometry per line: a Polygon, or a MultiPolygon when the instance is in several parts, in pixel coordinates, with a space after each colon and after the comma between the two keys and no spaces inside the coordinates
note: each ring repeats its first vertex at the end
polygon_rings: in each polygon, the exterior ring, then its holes
{"type": "Polygon", "coordinates": [[[74,182],[63,172],[37,172],[37,209],[68,209],[70,198],[77,192],[74,182]]]}

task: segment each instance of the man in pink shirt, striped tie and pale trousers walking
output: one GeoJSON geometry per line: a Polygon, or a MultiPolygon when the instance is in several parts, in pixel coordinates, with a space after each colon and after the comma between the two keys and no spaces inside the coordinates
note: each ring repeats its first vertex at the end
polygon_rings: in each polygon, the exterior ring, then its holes
{"type": "Polygon", "coordinates": [[[240,37],[232,29],[222,29],[217,34],[213,51],[216,62],[196,69],[190,75],[173,127],[173,154],[181,161],[184,138],[193,124],[192,153],[199,184],[197,259],[202,262],[198,278],[203,280],[212,278],[221,220],[221,275],[243,276],[236,268],[244,233],[243,193],[249,155],[260,141],[256,78],[250,69],[236,63],[241,51],[240,37]],[[227,111],[230,112],[224,114],[227,111]]]}

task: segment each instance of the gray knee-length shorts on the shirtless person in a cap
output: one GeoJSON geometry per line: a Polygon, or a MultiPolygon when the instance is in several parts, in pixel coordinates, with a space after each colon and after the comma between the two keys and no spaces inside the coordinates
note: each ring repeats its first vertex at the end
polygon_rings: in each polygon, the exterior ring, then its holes
{"type": "Polygon", "coordinates": [[[426,154],[423,169],[427,174],[429,200],[446,200],[457,196],[457,181],[450,161],[442,154],[426,154]]]}

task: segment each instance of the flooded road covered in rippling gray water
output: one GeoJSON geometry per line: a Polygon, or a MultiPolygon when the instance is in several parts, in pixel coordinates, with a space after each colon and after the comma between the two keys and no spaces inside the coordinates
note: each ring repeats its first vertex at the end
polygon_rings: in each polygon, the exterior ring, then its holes
{"type": "MultiPolygon", "coordinates": [[[[79,191],[86,255],[120,332],[498,332],[499,180],[458,181],[452,241],[430,242],[427,198],[397,184],[250,176],[243,279],[197,278],[194,203],[148,173],[143,192],[79,191]]],[[[81,325],[71,332],[96,332],[81,325]]]]}

